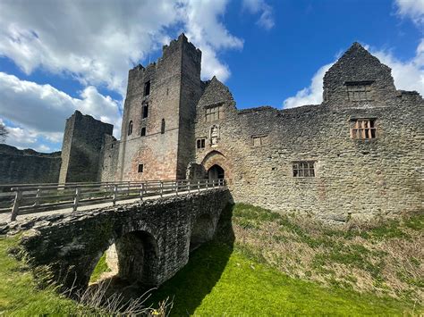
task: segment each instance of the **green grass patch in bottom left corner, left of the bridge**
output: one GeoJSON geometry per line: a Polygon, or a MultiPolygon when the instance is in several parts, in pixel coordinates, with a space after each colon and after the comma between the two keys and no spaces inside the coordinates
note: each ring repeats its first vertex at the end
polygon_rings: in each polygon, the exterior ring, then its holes
{"type": "Polygon", "coordinates": [[[53,288],[38,289],[25,265],[7,254],[17,241],[17,237],[0,238],[0,315],[93,313],[89,308],[59,296],[53,288]]]}

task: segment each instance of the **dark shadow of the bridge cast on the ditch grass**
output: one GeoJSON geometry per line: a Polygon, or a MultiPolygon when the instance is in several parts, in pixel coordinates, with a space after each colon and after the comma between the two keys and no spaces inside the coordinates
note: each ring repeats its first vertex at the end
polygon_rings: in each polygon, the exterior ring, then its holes
{"type": "Polygon", "coordinates": [[[233,204],[223,211],[216,228],[216,237],[190,254],[189,263],[166,281],[149,298],[157,302],[169,297],[174,301],[171,315],[192,315],[221,278],[226,263],[233,253],[233,204]]]}

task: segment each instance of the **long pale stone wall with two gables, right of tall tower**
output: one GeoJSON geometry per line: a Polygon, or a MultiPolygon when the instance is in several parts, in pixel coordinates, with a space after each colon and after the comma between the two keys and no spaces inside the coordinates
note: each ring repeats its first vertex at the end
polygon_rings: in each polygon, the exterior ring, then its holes
{"type": "Polygon", "coordinates": [[[319,105],[237,111],[213,79],[198,105],[196,137],[207,140],[195,163],[223,167],[234,200],[285,213],[346,221],[420,210],[423,99],[396,91],[390,69],[357,44],[327,72],[324,91],[319,105]],[[372,81],[375,99],[346,99],[344,83],[360,80],[372,81]],[[212,104],[222,104],[225,119],[205,121],[212,104]],[[351,138],[351,121],[360,118],[375,120],[377,138],[351,138]],[[315,177],[293,177],[298,161],[313,162],[315,177]]]}

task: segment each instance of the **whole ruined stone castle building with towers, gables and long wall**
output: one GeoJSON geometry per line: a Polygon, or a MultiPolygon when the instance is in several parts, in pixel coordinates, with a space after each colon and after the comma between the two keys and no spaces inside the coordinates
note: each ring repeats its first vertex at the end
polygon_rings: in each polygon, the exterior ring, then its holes
{"type": "Polygon", "coordinates": [[[65,132],[61,181],[80,180],[80,147],[98,165],[81,180],[225,178],[235,201],[337,221],[421,210],[423,99],[360,44],[326,72],[321,104],[285,110],[238,110],[200,62],[182,34],[133,68],[121,140],[109,126],[76,145],[65,132]]]}

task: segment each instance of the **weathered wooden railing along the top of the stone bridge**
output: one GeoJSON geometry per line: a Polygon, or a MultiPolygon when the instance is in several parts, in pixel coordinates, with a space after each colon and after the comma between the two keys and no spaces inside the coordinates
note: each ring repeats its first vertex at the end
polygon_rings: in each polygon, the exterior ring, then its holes
{"type": "Polygon", "coordinates": [[[10,219],[14,221],[18,215],[23,214],[68,208],[76,211],[79,206],[89,204],[115,205],[124,200],[143,200],[149,196],[178,196],[182,193],[224,186],[225,179],[6,185],[13,193],[0,192],[0,213],[11,213],[10,219]]]}

